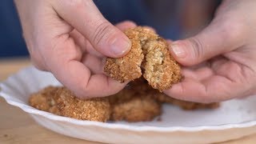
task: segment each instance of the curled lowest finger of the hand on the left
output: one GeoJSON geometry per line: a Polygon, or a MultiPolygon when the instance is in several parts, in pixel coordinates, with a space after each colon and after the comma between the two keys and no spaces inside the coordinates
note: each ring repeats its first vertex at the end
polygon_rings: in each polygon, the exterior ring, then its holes
{"type": "Polygon", "coordinates": [[[106,77],[105,74],[92,74],[89,68],[79,62],[81,51],[75,48],[73,39],[58,40],[59,45],[49,49],[49,53],[45,55],[50,59],[48,67],[54,76],[79,98],[108,96],[122,90],[126,85],[106,77]]]}

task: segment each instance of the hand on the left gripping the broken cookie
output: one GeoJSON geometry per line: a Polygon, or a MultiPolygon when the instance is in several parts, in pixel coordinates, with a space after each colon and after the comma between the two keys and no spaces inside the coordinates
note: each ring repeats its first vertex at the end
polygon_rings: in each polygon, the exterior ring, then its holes
{"type": "Polygon", "coordinates": [[[92,0],[16,0],[23,35],[34,65],[54,74],[80,98],[117,93],[126,85],[103,74],[102,58],[120,57],[130,40],[113,26],[92,0]]]}

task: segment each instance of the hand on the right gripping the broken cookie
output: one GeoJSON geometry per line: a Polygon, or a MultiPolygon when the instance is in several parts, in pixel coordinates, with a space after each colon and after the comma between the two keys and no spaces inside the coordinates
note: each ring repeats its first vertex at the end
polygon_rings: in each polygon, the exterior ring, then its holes
{"type": "Polygon", "coordinates": [[[256,1],[226,0],[214,20],[170,52],[185,66],[184,79],[165,93],[193,102],[219,102],[255,94],[256,1]]]}

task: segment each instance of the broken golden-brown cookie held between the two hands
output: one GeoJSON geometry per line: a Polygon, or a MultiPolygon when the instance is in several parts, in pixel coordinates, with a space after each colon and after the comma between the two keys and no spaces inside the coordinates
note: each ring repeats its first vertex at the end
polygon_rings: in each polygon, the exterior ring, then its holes
{"type": "Polygon", "coordinates": [[[119,82],[143,77],[154,89],[169,89],[181,79],[178,63],[168,51],[167,42],[153,30],[138,26],[125,34],[132,42],[131,50],[122,58],[107,58],[104,70],[119,82]]]}

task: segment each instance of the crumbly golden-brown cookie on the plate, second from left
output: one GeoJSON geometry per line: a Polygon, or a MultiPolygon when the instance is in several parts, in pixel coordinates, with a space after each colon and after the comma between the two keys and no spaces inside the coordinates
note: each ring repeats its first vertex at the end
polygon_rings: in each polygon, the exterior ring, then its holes
{"type": "Polygon", "coordinates": [[[76,98],[70,90],[62,87],[56,91],[54,100],[62,116],[98,122],[106,122],[110,118],[108,98],[82,100],[76,98]]]}

